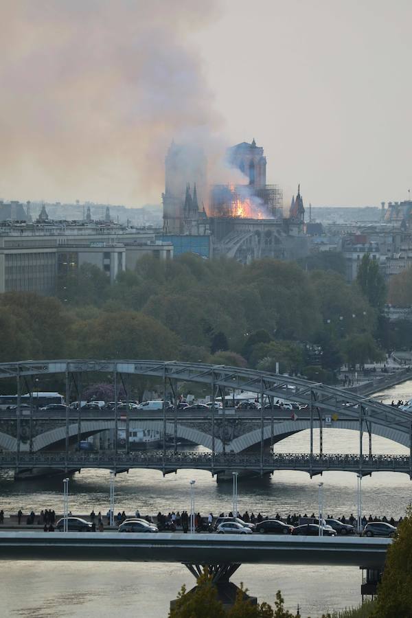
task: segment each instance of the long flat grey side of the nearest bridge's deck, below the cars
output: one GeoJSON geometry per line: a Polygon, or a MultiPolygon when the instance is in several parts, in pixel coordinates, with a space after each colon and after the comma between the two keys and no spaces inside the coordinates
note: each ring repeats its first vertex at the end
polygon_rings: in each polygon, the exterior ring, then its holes
{"type": "Polygon", "coordinates": [[[0,532],[0,559],[341,564],[380,569],[390,544],[387,538],[0,532]]]}

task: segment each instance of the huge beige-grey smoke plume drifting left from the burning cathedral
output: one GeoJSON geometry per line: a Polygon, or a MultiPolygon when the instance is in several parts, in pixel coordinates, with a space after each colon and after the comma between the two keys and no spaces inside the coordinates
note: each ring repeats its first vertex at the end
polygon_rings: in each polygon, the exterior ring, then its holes
{"type": "Polygon", "coordinates": [[[0,196],[159,202],[172,139],[214,143],[221,128],[191,43],[216,12],[214,0],[2,0],[0,196]]]}

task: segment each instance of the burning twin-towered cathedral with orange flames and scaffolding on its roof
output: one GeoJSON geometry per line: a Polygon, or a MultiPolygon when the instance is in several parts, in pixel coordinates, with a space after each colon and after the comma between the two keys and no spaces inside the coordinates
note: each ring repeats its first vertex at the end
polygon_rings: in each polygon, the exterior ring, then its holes
{"type": "Polygon", "coordinates": [[[229,148],[227,164],[242,181],[209,185],[203,150],[172,142],[165,157],[163,233],[209,235],[214,255],[241,262],[306,255],[300,191],[284,217],[282,190],[266,184],[264,149],[255,139],[243,141],[229,148]]]}

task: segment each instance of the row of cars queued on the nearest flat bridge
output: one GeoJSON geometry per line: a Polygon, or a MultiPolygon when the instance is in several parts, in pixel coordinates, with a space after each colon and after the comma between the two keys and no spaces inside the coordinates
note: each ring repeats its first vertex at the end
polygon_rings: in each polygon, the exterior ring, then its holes
{"type": "MultiPolygon", "coordinates": [[[[79,518],[69,517],[67,520],[68,529],[71,532],[87,532],[91,531],[92,525],[90,522],[79,518]]],[[[58,520],[56,529],[62,531],[64,528],[64,519],[58,520]]],[[[264,519],[263,521],[253,524],[246,523],[238,517],[218,517],[214,526],[205,524],[201,527],[204,531],[216,532],[217,534],[293,534],[295,536],[319,536],[319,524],[304,523],[299,526],[292,526],[277,519],[264,519]]],[[[142,518],[130,518],[124,520],[117,529],[118,532],[158,532],[159,528],[142,518]]],[[[322,525],[323,536],[337,536],[355,534],[355,529],[350,524],[343,524],[337,519],[323,520],[322,525]]],[[[385,522],[370,522],[365,525],[362,536],[383,536],[393,537],[396,535],[396,527],[385,522]]]]}

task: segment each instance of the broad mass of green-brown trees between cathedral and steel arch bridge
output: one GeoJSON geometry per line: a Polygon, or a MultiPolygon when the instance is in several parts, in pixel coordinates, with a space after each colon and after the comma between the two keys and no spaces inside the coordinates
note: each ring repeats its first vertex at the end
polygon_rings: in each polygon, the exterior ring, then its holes
{"type": "Polygon", "coordinates": [[[383,358],[373,266],[365,262],[363,279],[347,284],[337,270],[294,262],[185,254],[143,258],[111,285],[83,264],[60,279],[56,297],[0,295],[0,361],[156,358],[268,371],[279,363],[332,381],[343,362],[383,358]]]}

